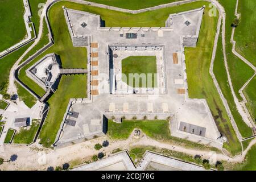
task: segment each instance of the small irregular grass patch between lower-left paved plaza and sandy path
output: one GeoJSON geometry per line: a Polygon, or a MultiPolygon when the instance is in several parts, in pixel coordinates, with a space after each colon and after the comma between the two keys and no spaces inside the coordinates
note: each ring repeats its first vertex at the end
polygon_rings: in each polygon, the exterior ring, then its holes
{"type": "Polygon", "coordinates": [[[36,131],[38,131],[40,121],[32,121],[30,129],[22,128],[19,133],[16,133],[13,139],[13,143],[30,144],[33,142],[36,131]]]}

